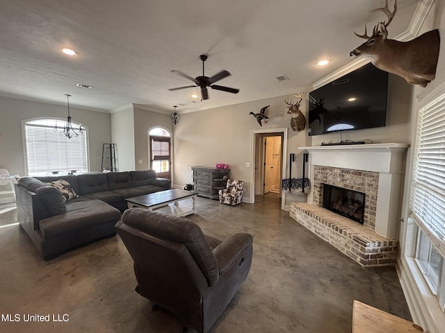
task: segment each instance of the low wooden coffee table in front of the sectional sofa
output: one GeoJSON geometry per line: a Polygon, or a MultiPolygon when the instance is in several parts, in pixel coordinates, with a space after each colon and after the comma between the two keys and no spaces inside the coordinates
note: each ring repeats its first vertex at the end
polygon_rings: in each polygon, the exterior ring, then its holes
{"type": "Polygon", "coordinates": [[[129,208],[143,207],[147,208],[147,210],[156,210],[156,212],[161,212],[163,214],[187,216],[196,214],[196,196],[197,192],[195,191],[168,189],[166,191],[145,194],[144,196],[134,196],[133,198],[127,198],[125,200],[127,200],[129,208]],[[179,205],[179,201],[188,198],[192,199],[192,207],[179,205]]]}

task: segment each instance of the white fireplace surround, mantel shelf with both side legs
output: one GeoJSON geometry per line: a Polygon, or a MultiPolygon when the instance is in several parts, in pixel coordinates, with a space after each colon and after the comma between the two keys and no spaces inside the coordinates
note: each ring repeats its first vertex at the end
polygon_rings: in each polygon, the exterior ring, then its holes
{"type": "MultiPolygon", "coordinates": [[[[309,152],[309,179],[314,184],[314,166],[378,173],[377,207],[374,231],[397,239],[399,195],[404,173],[407,144],[355,144],[298,147],[309,152]]],[[[314,191],[307,203],[314,205],[314,191]]]]}

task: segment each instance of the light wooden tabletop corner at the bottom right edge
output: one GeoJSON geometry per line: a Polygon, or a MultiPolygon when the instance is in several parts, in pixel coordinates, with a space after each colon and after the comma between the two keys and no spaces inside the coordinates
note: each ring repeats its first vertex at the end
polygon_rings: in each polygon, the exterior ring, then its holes
{"type": "Polygon", "coordinates": [[[354,300],[353,333],[421,333],[422,327],[410,321],[354,300]]]}

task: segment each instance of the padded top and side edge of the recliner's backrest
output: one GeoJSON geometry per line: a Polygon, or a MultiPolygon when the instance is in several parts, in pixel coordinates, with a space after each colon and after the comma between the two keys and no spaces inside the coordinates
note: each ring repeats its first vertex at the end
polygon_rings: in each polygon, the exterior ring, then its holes
{"type": "Polygon", "coordinates": [[[143,208],[129,208],[122,215],[122,222],[154,237],[184,244],[209,285],[213,286],[218,281],[218,262],[197,224],[177,216],[147,212],[143,208]]]}

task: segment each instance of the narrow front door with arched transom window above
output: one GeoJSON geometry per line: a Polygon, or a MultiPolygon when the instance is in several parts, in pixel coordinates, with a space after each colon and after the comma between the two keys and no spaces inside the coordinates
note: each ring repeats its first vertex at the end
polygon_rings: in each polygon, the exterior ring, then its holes
{"type": "Polygon", "coordinates": [[[149,131],[150,168],[158,177],[171,179],[170,133],[156,127],[149,131]]]}

